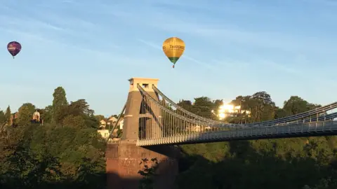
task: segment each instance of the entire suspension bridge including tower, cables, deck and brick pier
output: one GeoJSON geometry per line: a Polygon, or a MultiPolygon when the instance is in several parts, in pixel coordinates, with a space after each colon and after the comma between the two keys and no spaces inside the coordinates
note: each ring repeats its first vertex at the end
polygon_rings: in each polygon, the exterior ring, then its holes
{"type": "Polygon", "coordinates": [[[124,115],[122,137],[112,143],[110,133],[107,140],[108,188],[138,188],[141,162],[152,158],[160,162],[154,188],[175,188],[180,144],[337,134],[337,121],[333,121],[337,113],[332,113],[337,102],[286,118],[229,124],[197,116],[178,106],[158,89],[158,79],[129,81],[128,99],[117,120],[119,123],[124,115]]]}

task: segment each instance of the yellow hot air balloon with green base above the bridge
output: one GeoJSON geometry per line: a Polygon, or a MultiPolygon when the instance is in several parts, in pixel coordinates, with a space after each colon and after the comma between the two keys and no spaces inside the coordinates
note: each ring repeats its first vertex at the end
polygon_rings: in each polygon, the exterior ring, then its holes
{"type": "Polygon", "coordinates": [[[174,65],[185,51],[185,43],[178,37],[167,38],[163,43],[163,51],[173,63],[174,68],[174,65]]]}

